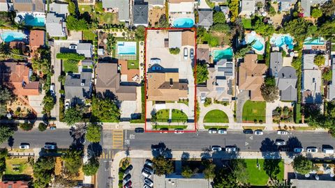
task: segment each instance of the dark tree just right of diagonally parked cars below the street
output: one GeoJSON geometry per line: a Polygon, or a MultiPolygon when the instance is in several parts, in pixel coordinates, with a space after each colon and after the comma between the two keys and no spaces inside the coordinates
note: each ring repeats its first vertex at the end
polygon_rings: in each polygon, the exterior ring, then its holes
{"type": "Polygon", "coordinates": [[[165,159],[163,156],[154,157],[154,170],[156,175],[170,174],[173,172],[173,164],[170,159],[165,159]]]}

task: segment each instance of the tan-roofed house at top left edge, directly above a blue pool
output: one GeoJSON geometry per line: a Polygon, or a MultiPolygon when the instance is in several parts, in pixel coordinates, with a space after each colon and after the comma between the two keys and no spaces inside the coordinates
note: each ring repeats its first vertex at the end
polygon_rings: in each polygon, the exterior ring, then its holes
{"type": "Polygon", "coordinates": [[[45,13],[43,0],[13,0],[13,8],[19,13],[45,13]]]}

